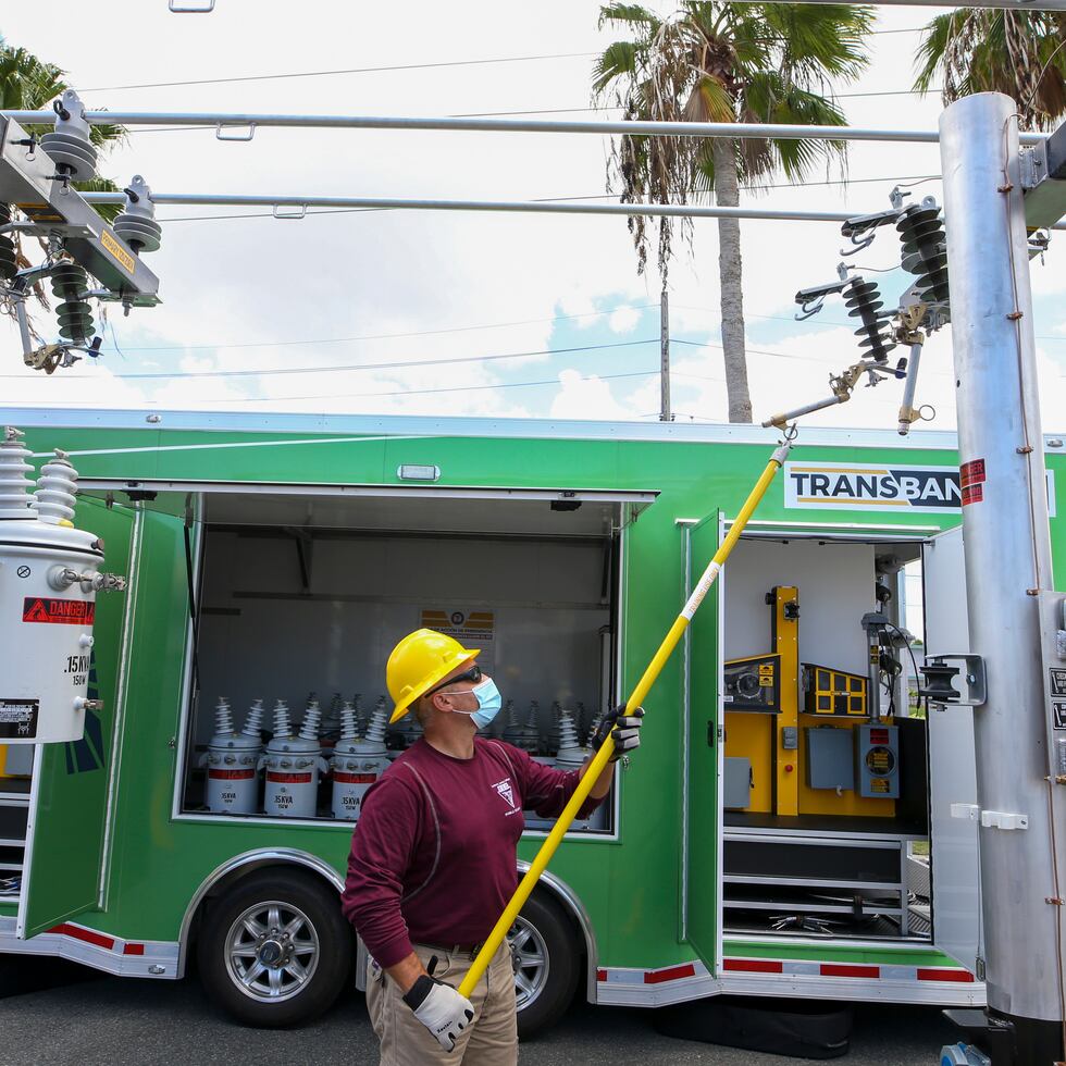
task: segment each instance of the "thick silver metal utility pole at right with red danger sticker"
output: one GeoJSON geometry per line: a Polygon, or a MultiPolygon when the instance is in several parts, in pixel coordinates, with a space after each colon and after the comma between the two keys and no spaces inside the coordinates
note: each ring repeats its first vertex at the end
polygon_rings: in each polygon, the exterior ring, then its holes
{"type": "MultiPolygon", "coordinates": [[[[1015,104],[980,94],[941,115],[958,455],[971,649],[988,672],[974,714],[987,1017],[951,1012],[992,1062],[1064,1058],[1063,898],[1045,689],[1056,635],[1041,635],[1051,537],[1015,104]],[[1051,648],[1049,649],[1049,643],[1051,648]]],[[[1066,661],[1059,660],[1059,667],[1066,661]]],[[[1052,670],[1052,673],[1055,671],[1052,670]]],[[[1066,675],[1066,671],[1064,671],[1066,675]]],[[[945,714],[951,714],[949,708],[945,714]]],[[[1064,742],[1066,743],[1066,742],[1064,742]]],[[[958,811],[966,814],[966,811],[958,811]]]]}

